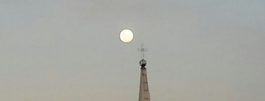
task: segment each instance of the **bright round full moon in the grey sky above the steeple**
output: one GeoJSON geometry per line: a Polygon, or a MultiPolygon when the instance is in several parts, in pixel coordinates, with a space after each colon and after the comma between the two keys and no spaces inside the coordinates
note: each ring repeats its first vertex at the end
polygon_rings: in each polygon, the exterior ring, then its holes
{"type": "Polygon", "coordinates": [[[133,33],[130,29],[123,29],[120,33],[120,39],[123,42],[131,42],[133,39],[133,33]]]}

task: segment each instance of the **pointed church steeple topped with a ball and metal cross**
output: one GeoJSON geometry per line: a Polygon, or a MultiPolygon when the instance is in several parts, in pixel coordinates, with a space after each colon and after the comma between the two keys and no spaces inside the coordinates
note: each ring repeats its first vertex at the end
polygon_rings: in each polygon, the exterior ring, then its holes
{"type": "Polygon", "coordinates": [[[146,72],[146,61],[144,60],[144,51],[147,49],[143,48],[143,44],[141,48],[138,48],[138,51],[142,52],[142,60],[139,61],[141,66],[141,74],[140,74],[140,90],[139,90],[139,101],[150,101],[150,94],[147,82],[147,72],[146,72]]]}

